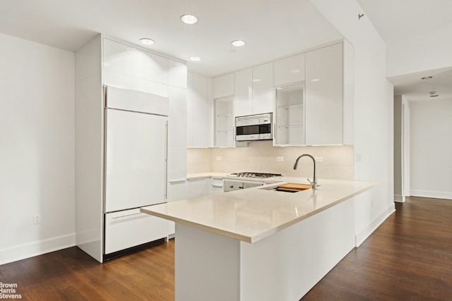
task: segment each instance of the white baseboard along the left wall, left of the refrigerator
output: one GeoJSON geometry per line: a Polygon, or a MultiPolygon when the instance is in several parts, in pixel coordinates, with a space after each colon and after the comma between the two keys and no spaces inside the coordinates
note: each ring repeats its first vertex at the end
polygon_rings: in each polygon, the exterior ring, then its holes
{"type": "Polygon", "coordinates": [[[0,249],[0,264],[16,262],[21,259],[54,252],[75,245],[76,233],[71,233],[55,236],[54,238],[47,238],[45,240],[36,240],[22,245],[15,245],[13,247],[6,247],[0,249]]]}

